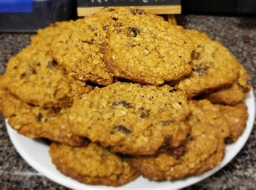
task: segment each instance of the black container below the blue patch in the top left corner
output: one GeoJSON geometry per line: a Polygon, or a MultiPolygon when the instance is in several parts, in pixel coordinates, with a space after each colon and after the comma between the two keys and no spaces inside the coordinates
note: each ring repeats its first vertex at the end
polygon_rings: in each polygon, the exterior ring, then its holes
{"type": "Polygon", "coordinates": [[[76,0],[33,0],[32,12],[0,12],[0,32],[35,32],[77,18],[76,0]]]}

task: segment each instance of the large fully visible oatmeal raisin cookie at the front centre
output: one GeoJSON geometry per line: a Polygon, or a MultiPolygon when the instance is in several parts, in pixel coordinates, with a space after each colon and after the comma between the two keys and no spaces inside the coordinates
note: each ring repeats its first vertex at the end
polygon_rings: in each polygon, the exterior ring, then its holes
{"type": "Polygon", "coordinates": [[[76,100],[68,114],[73,133],[113,152],[154,154],[161,146],[179,146],[190,132],[182,122],[190,114],[187,100],[169,85],[96,87],[76,100]]]}

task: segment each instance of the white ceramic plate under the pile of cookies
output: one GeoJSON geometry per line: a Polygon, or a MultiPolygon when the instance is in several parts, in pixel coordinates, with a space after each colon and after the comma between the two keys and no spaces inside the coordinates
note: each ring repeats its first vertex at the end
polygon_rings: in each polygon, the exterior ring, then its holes
{"type": "MultiPolygon", "coordinates": [[[[219,169],[223,168],[228,162],[230,162],[235,155],[241,150],[241,148],[245,145],[253,127],[254,123],[254,113],[255,113],[255,105],[254,105],[254,95],[251,90],[250,93],[247,94],[247,99],[245,101],[248,107],[249,118],[247,120],[247,126],[244,133],[232,145],[228,145],[226,148],[226,154],[224,159],[221,161],[220,165],[200,175],[198,177],[188,177],[182,180],[174,180],[174,181],[149,181],[142,177],[138,178],[135,181],[130,182],[129,184],[117,187],[116,189],[178,189],[190,186],[192,184],[196,184],[197,182],[206,179],[210,175],[219,171],[219,169]]],[[[5,120],[8,133],[12,143],[14,144],[16,150],[23,157],[29,165],[35,168],[38,172],[45,175],[45,177],[49,178],[52,181],[57,182],[63,186],[72,188],[72,189],[113,189],[113,187],[107,186],[91,186],[81,184],[78,181],[75,181],[65,175],[61,174],[55,166],[52,164],[50,156],[48,154],[49,146],[44,143],[42,140],[34,140],[24,137],[23,135],[17,134],[15,130],[13,130],[5,120]]]]}

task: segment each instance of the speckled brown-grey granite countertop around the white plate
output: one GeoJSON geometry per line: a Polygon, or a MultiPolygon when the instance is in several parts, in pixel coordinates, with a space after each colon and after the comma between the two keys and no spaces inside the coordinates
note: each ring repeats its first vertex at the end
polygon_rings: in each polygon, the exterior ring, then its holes
{"type": "MultiPolygon", "coordinates": [[[[256,89],[256,17],[180,15],[179,25],[206,32],[244,64],[256,89]]],[[[30,34],[0,33],[0,74],[11,56],[29,44],[30,34]]],[[[230,164],[187,189],[256,189],[256,127],[230,164]]],[[[15,151],[0,116],[0,189],[66,189],[32,169],[15,151]]]]}

